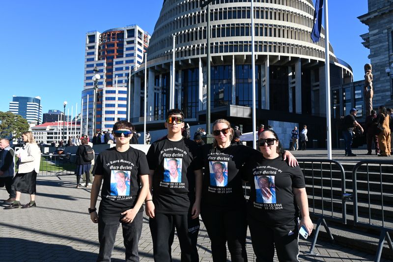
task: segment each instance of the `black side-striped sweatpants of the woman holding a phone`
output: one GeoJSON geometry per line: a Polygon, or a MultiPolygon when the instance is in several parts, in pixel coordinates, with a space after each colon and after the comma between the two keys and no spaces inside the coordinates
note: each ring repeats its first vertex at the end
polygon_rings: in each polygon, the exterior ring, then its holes
{"type": "Polygon", "coordinates": [[[288,225],[268,227],[253,218],[248,218],[251,241],[256,262],[273,262],[274,247],[280,262],[298,262],[299,229],[298,220],[288,225]]]}

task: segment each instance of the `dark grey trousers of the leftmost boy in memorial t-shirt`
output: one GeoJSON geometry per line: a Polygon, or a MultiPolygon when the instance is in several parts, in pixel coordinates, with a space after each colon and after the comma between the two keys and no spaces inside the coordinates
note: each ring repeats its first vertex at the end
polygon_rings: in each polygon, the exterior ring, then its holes
{"type": "Polygon", "coordinates": [[[126,248],[126,262],[139,262],[138,242],[142,233],[143,212],[138,212],[132,223],[120,222],[120,218],[121,216],[103,217],[101,212],[98,213],[100,252],[97,262],[111,261],[114,241],[120,223],[123,230],[123,243],[126,248]]]}

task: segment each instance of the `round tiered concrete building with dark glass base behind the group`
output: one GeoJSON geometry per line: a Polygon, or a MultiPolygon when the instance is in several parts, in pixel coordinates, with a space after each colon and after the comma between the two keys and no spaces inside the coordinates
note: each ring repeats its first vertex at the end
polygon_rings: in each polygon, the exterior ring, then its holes
{"type": "MultiPolygon", "coordinates": [[[[251,131],[251,0],[215,0],[210,5],[211,119],[227,118],[251,131]]],[[[326,88],[324,30],[312,43],[312,0],[254,2],[257,124],[275,123],[286,137],[293,125],[311,123],[324,143],[326,88]],[[322,134],[322,136],[321,136],[322,134]]],[[[168,111],[173,36],[175,37],[175,107],[190,124],[206,119],[207,11],[198,0],[165,0],[147,55],[149,129],[162,128],[168,111]]],[[[331,85],[353,81],[351,67],[330,46],[331,85]]],[[[143,120],[144,64],[132,71],[129,111],[143,120]]],[[[310,129],[309,129],[310,130],[310,129]]],[[[326,131],[325,131],[326,133],[326,131]]],[[[289,135],[288,135],[289,136],[289,135]]]]}

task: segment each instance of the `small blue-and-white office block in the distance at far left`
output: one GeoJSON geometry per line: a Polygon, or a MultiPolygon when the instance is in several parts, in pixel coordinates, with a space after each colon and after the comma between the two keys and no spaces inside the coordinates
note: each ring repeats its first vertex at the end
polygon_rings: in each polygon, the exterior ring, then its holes
{"type": "Polygon", "coordinates": [[[28,120],[29,124],[42,123],[41,97],[12,96],[9,111],[28,120]]]}

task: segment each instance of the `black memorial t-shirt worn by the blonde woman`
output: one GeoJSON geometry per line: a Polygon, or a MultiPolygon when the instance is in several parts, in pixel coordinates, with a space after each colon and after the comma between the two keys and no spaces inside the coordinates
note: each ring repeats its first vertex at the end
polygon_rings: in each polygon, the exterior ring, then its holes
{"type": "Polygon", "coordinates": [[[202,205],[214,210],[244,207],[242,178],[239,170],[258,151],[249,146],[231,144],[228,147],[202,146],[203,185],[202,205]]]}

